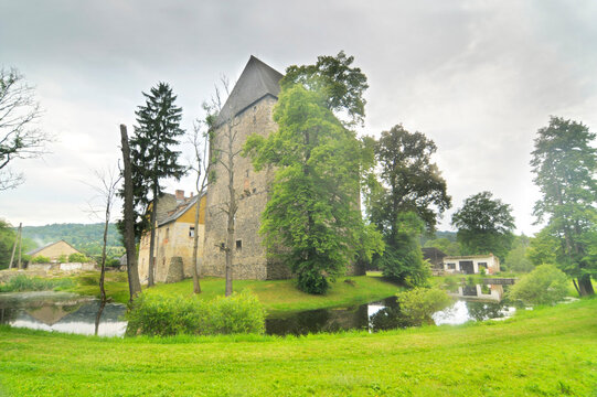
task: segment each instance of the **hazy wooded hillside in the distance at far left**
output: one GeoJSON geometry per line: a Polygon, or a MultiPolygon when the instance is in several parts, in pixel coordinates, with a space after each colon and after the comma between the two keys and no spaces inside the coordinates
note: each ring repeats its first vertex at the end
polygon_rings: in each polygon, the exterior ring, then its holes
{"type": "MultiPolygon", "coordinates": [[[[104,239],[104,224],[52,224],[45,226],[23,226],[23,238],[31,238],[38,247],[61,239],[87,255],[98,255],[104,239]]],[[[108,229],[108,247],[121,251],[120,234],[116,224],[108,229]]]]}

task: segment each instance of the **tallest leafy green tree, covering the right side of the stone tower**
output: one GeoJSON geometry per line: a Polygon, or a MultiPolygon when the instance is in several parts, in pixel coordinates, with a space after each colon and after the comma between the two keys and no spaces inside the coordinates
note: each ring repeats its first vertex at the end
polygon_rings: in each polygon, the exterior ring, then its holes
{"type": "Polygon", "coordinates": [[[324,293],[356,256],[383,250],[360,213],[360,180],[373,158],[349,129],[363,122],[367,88],[353,61],[340,52],[289,66],[274,111],[278,131],[245,146],[256,169],[278,168],[262,215],[264,242],[311,293],[324,293]]]}

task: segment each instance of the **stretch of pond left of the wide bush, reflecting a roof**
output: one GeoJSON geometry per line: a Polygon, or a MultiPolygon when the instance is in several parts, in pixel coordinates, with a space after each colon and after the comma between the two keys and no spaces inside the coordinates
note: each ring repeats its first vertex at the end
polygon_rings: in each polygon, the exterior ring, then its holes
{"type": "Polygon", "coordinates": [[[106,303],[102,312],[100,309],[100,302],[88,297],[11,294],[0,298],[0,323],[32,330],[122,336],[127,328],[122,320],[126,307],[106,303]]]}

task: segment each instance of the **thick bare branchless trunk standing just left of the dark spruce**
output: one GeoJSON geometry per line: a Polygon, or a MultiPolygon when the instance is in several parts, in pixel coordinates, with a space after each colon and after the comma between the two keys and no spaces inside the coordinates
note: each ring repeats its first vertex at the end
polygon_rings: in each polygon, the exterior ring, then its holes
{"type": "Polygon", "coordinates": [[[127,271],[129,299],[132,301],[141,292],[139,271],[137,269],[137,249],[135,247],[135,219],[132,211],[132,176],[130,173],[130,148],[128,146],[127,127],[120,125],[120,141],[122,144],[122,163],[125,174],[125,247],[127,250],[127,271]]]}

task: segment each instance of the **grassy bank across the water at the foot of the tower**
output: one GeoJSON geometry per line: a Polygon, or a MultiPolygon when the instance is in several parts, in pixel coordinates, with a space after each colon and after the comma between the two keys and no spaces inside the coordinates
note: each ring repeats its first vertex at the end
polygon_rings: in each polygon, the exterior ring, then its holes
{"type": "MultiPolygon", "coordinates": [[[[78,286],[70,291],[97,296],[99,287],[93,283],[97,275],[86,273],[77,278],[78,286]],[[88,281],[88,285],[85,282],[88,281]]],[[[128,301],[128,283],[125,273],[108,273],[106,291],[117,302],[126,303],[128,301]]],[[[204,278],[201,279],[203,299],[213,299],[218,294],[224,294],[224,279],[204,278]]],[[[387,298],[398,291],[398,287],[383,281],[377,277],[355,276],[340,277],[326,296],[312,296],[299,291],[294,280],[234,280],[235,291],[250,289],[259,301],[265,305],[269,314],[284,315],[284,313],[311,310],[320,308],[348,307],[371,302],[374,300],[387,298]],[[349,282],[345,282],[349,280],[349,282]]],[[[153,288],[146,289],[148,293],[158,294],[181,294],[191,296],[193,291],[193,281],[191,279],[175,283],[158,283],[153,288]]]]}

